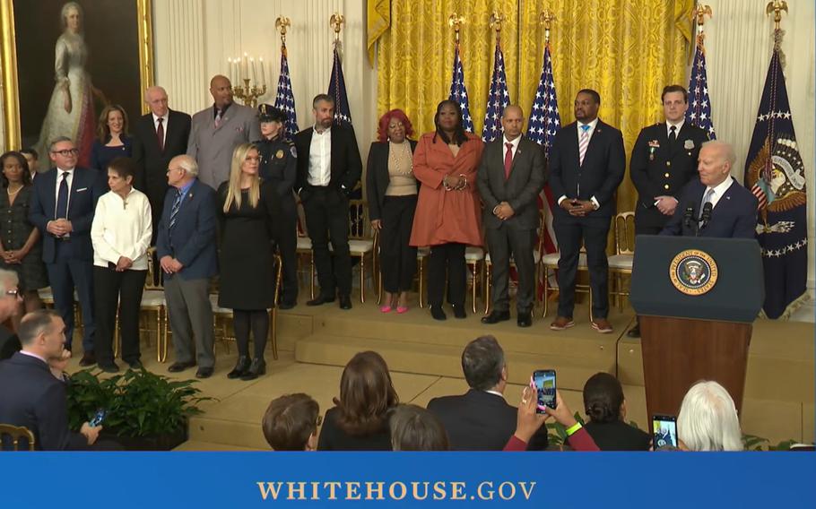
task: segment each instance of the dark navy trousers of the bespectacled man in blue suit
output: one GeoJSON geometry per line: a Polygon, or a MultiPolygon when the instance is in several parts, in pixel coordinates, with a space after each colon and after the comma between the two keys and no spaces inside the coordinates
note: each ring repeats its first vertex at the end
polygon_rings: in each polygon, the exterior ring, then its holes
{"type": "Polygon", "coordinates": [[[94,350],[96,325],[93,310],[93,263],[71,258],[71,240],[56,241],[56,262],[46,263],[48,281],[54,293],[54,308],[65,322],[65,348],[74,341],[74,289],[82,307],[82,349],[94,350]]]}

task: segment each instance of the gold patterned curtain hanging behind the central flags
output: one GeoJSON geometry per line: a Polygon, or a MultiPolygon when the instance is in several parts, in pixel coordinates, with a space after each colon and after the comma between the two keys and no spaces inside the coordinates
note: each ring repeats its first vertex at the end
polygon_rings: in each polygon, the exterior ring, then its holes
{"type": "MultiPolygon", "coordinates": [[[[379,39],[378,112],[403,108],[417,133],[433,129],[436,105],[450,87],[454,35],[447,17],[456,11],[465,17],[460,51],[481,133],[495,44],[489,19],[496,10],[507,18],[501,43],[510,98],[528,116],[541,75],[545,7],[556,16],[550,44],[561,124],[575,120],[577,91],[595,89],[600,117],[621,129],[628,155],[640,129],[661,119],[663,87],[685,85],[693,0],[392,0],[391,29],[379,39]]],[[[632,210],[635,200],[627,173],[618,210],[632,210]]]]}

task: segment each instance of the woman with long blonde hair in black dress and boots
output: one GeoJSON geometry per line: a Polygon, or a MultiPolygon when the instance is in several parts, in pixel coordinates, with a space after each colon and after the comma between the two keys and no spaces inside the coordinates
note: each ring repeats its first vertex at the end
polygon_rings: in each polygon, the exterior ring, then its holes
{"type": "Polygon", "coordinates": [[[280,198],[273,185],[258,177],[260,155],[252,143],[232,152],[230,179],[218,187],[216,213],[220,232],[218,305],[232,309],[239,358],[228,378],[253,380],[266,373],[264,349],[269,334],[268,309],[274,306],[272,240],[280,198]],[[249,332],[255,358],[249,356],[249,332]]]}

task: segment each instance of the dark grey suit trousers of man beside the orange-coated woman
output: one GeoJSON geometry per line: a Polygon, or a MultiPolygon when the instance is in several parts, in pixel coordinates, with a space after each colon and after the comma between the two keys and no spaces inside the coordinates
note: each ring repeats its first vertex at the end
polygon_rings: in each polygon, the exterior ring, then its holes
{"type": "Polygon", "coordinates": [[[535,261],[533,258],[534,229],[486,229],[490,263],[492,265],[493,308],[508,311],[508,280],[510,277],[510,255],[516,262],[518,291],[516,308],[518,313],[529,313],[533,309],[535,293],[535,261]]]}

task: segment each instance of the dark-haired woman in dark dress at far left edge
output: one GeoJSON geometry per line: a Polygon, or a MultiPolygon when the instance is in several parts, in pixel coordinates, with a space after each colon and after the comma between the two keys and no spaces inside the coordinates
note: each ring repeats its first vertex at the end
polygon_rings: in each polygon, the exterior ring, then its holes
{"type": "Polygon", "coordinates": [[[28,313],[42,307],[37,290],[48,286],[39,230],[29,222],[31,174],[20,152],[5,152],[0,168],[0,268],[17,272],[28,313]]]}

